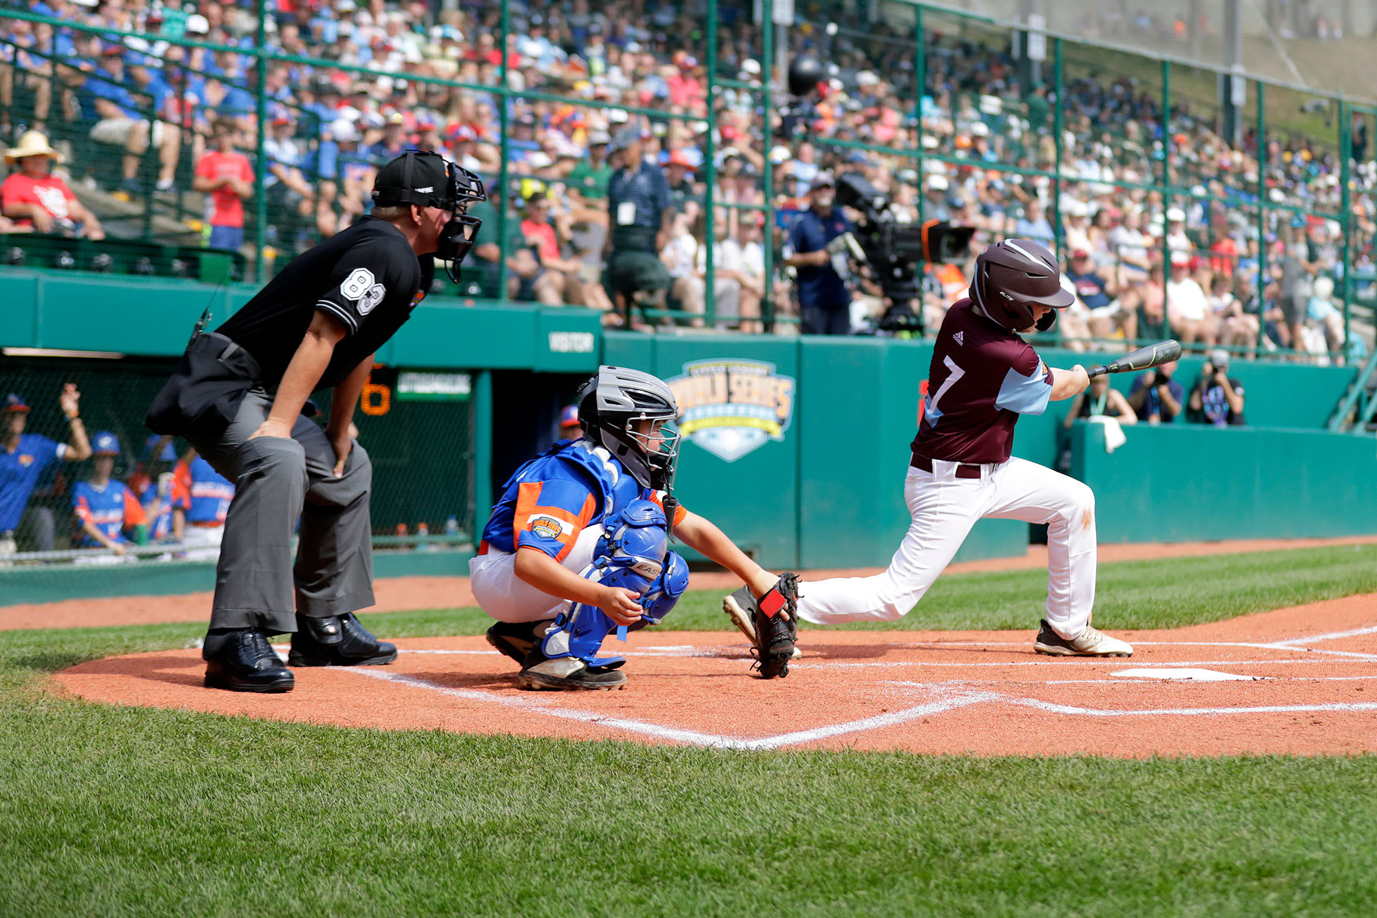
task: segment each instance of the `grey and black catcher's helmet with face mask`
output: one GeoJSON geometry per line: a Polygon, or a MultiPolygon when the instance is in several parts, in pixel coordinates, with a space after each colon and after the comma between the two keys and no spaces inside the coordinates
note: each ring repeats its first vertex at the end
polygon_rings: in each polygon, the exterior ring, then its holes
{"type": "Polygon", "coordinates": [[[598,374],[578,391],[578,425],[593,443],[616,456],[622,468],[646,487],[662,490],[675,478],[679,432],[636,431],[639,421],[671,424],[679,417],[679,403],[660,378],[621,366],[599,366],[598,374]],[[660,442],[651,446],[650,438],[660,442]]]}

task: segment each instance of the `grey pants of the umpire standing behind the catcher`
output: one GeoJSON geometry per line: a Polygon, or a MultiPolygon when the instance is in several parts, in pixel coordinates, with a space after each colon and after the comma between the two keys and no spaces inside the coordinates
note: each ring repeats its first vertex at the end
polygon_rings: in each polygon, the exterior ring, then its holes
{"type": "Polygon", "coordinates": [[[224,478],[234,500],[215,577],[211,628],[296,630],[303,615],[343,615],[373,604],[369,491],[373,467],[357,442],[335,478],[335,450],[314,421],[296,418],[292,439],[249,439],[273,396],[251,389],[234,423],[193,446],[224,478]],[[292,566],[292,533],[302,534],[292,566]]]}

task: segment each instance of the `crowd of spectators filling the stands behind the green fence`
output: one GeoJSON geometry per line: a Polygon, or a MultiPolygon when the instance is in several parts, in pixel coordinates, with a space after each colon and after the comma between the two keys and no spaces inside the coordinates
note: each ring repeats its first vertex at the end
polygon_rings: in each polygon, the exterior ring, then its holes
{"type": "MultiPolygon", "coordinates": [[[[186,187],[205,195],[208,241],[244,245],[256,129],[252,4],[22,6],[143,37],[0,18],[0,136],[14,145],[8,160],[21,176],[0,191],[0,231],[102,233],[72,186],[125,195],[186,187]],[[238,51],[183,48],[161,37],[175,33],[238,51]],[[36,191],[48,164],[62,158],[66,180],[54,182],[62,187],[36,191]]],[[[972,253],[1000,235],[1059,241],[1080,295],[1059,322],[1073,347],[1091,347],[1082,339],[1157,334],[1201,350],[1248,347],[1261,330],[1272,350],[1354,355],[1365,348],[1356,336],[1344,340],[1336,306],[1336,285],[1344,284],[1341,224],[1310,216],[1340,211],[1336,150],[1279,132],[1261,149],[1250,131],[1230,145],[1217,120],[1190,105],[1175,106],[1166,124],[1159,99],[1107,73],[1069,74],[1056,138],[1048,87],[1020,84],[1005,48],[960,36],[932,36],[914,105],[912,37],[883,21],[866,23],[865,37],[801,18],[789,30],[793,54],[828,62],[815,102],[801,113],[781,114],[782,98],[761,109],[759,98],[739,89],[722,91],[709,113],[701,6],[515,0],[501,43],[497,4],[465,0],[438,10],[419,1],[281,0],[266,23],[274,51],[386,76],[267,63],[269,244],[291,255],[358,219],[369,208],[377,165],[410,146],[442,151],[494,186],[503,98],[485,87],[497,85],[505,55],[509,87],[532,94],[507,100],[508,187],[493,198],[512,208],[508,238],[497,238],[496,209],[487,208],[483,237],[465,264],[464,295],[584,304],[611,317],[618,310],[610,307],[649,289],[658,293],[657,304],[676,311],[653,322],[702,325],[712,245],[717,323],[757,332],[771,246],[774,314],[801,314],[806,330],[851,332],[885,304],[866,284],[833,284],[826,259],[804,257],[826,231],[804,233],[795,223],[810,209],[830,213],[818,206],[819,197],[858,172],[890,195],[896,219],[976,227],[972,253]],[[717,209],[712,226],[702,206],[709,132],[713,201],[745,205],[717,209]],[[942,158],[924,158],[918,173],[912,157],[834,142],[921,147],[942,158]],[[1058,146],[1059,195],[1051,179],[1007,168],[1053,169],[1058,146]],[[749,209],[766,202],[767,160],[775,176],[768,194],[779,213],[771,227],[749,209]],[[653,255],[658,267],[618,255],[631,224],[614,197],[617,175],[629,180],[642,168],[662,176],[654,179],[655,194],[668,195],[668,206],[657,206],[657,216],[668,215],[664,223],[640,227],[649,234],[636,239],[636,250],[653,255]],[[1144,187],[1164,168],[1172,189],[1165,197],[1144,187]],[[1261,233],[1259,186],[1270,204],[1296,208],[1268,211],[1261,233]],[[500,290],[504,256],[508,289],[500,290]]],[[[717,39],[719,76],[759,85],[763,67],[752,55],[760,34],[749,7],[723,3],[717,39]]],[[[1371,292],[1377,233],[1373,195],[1365,193],[1377,179],[1370,157],[1366,121],[1358,120],[1349,242],[1352,289],[1363,295],[1371,292]]],[[[638,220],[644,222],[644,209],[638,220]]],[[[968,270],[927,268],[921,308],[928,328],[961,295],[968,270]]]]}

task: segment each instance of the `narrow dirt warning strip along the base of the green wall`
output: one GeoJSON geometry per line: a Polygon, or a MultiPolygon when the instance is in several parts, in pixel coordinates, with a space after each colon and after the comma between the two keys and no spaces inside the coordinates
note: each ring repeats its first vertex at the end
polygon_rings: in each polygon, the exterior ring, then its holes
{"type": "MultiPolygon", "coordinates": [[[[1241,552],[1282,551],[1289,548],[1321,548],[1325,545],[1367,545],[1377,535],[1349,538],[1296,540],[1237,540],[1228,542],[1180,542],[1173,545],[1100,545],[1099,559],[1104,562],[1147,560],[1153,557],[1195,557],[1199,555],[1237,555],[1241,552]]],[[[1023,557],[993,557],[964,562],[947,567],[949,574],[976,571],[1009,571],[1047,567],[1047,546],[1034,545],[1023,557]]],[[[804,579],[828,577],[865,577],[879,568],[847,571],[807,571],[804,579]]],[[[739,586],[731,574],[694,573],[690,589],[726,589],[739,586]]],[[[375,585],[377,604],[369,612],[399,612],[414,608],[459,608],[475,606],[467,577],[397,577],[380,579],[375,585]]],[[[211,610],[211,593],[183,593],[178,596],[116,596],[110,599],[80,599],[62,603],[29,606],[0,606],[0,630],[21,628],[99,628],[109,625],[154,625],[158,622],[205,621],[211,610]]]]}

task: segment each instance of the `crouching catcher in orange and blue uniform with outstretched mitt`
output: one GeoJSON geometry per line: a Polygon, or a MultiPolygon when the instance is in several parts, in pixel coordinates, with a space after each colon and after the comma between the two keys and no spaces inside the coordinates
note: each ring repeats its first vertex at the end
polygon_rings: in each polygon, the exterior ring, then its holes
{"type": "Polygon", "coordinates": [[[584,438],[556,442],[503,486],[470,584],[497,619],[487,643],[521,665],[523,688],[625,685],[627,661],[598,654],[613,629],[625,640],[658,625],[687,589],[688,566],[669,551],[671,531],[739,577],[746,593],[763,595],[763,606],[782,607],[777,588],[792,574],[764,571],[668,497],[679,434],[665,425],[677,417],[661,380],[600,366],[578,394],[584,438]]]}

